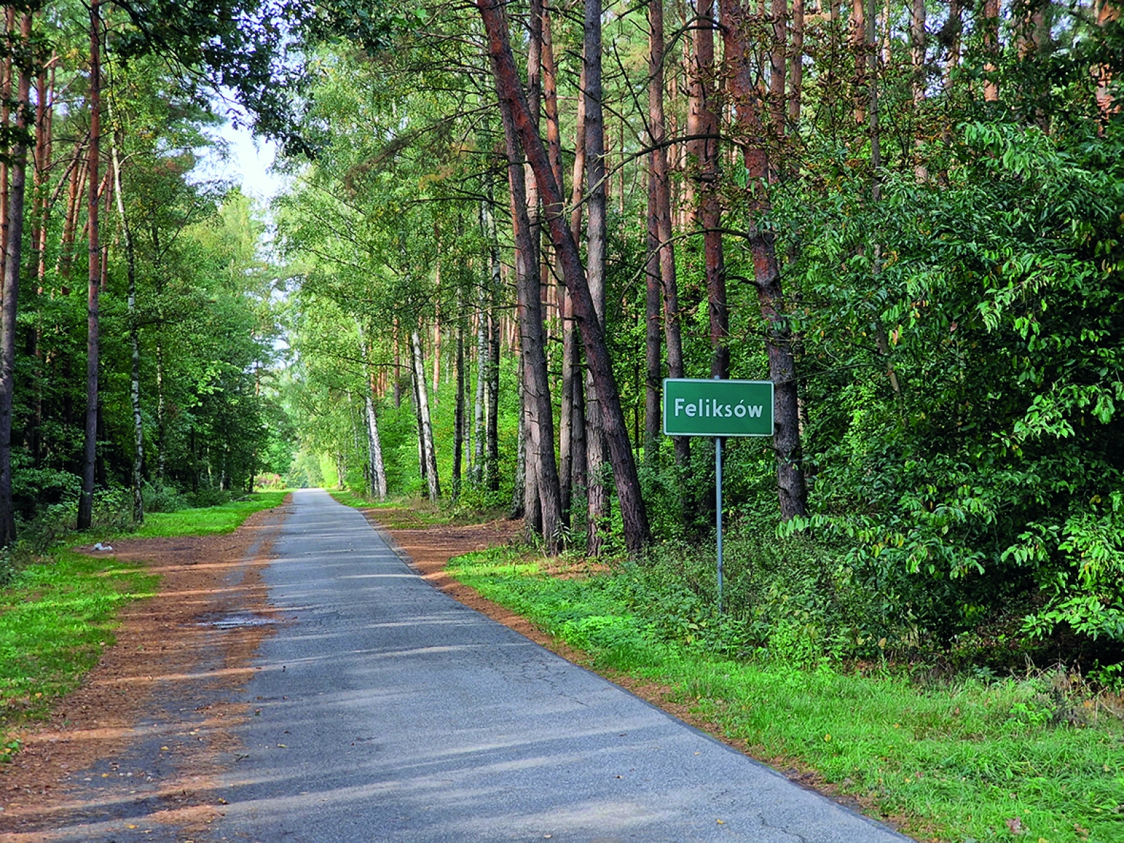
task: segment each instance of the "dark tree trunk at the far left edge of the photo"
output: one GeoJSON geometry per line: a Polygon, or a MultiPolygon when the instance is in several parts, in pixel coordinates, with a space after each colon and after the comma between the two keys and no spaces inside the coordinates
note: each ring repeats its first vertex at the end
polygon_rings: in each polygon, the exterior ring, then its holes
{"type": "MultiPolygon", "coordinates": [[[[20,22],[21,47],[30,49],[31,16],[20,22]]],[[[11,499],[11,409],[16,386],[16,305],[24,242],[24,196],[27,184],[27,110],[31,99],[31,60],[22,57],[16,99],[16,137],[11,149],[11,187],[8,191],[8,228],[3,261],[3,305],[0,309],[0,547],[16,541],[16,513],[11,499]]]]}

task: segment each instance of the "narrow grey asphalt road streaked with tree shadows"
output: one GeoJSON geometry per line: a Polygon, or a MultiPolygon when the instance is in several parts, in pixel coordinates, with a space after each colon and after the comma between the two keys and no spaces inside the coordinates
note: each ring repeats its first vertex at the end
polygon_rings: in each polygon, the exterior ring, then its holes
{"type": "Polygon", "coordinates": [[[323,491],[274,552],[216,839],[906,840],[433,589],[323,491]]]}

